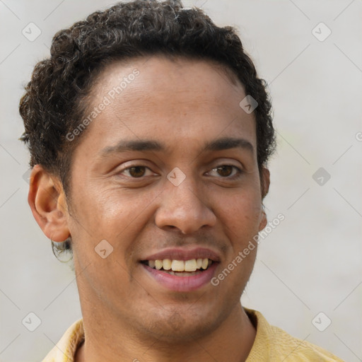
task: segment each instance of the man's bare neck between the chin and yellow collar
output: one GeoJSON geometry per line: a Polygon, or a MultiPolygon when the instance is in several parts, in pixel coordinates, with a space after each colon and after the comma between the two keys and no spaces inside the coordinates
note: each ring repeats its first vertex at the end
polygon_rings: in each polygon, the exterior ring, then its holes
{"type": "Polygon", "coordinates": [[[78,349],[75,362],[242,362],[246,361],[256,335],[240,303],[216,330],[188,343],[152,341],[149,335],[129,333],[126,323],[105,315],[95,317],[94,310],[89,315],[85,312],[85,342],[78,349]]]}

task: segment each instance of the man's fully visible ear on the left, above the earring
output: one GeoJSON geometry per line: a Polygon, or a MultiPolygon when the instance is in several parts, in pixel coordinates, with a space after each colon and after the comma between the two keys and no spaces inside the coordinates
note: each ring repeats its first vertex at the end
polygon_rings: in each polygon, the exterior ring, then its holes
{"type": "Polygon", "coordinates": [[[28,203],[47,238],[62,242],[69,237],[69,213],[62,183],[41,165],[35,165],[30,174],[28,203]]]}

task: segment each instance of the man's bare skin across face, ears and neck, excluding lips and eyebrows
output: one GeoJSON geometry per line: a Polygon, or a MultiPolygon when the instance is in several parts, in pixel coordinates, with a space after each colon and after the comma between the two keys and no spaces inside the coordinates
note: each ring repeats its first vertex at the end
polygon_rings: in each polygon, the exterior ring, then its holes
{"type": "Polygon", "coordinates": [[[41,165],[31,177],[28,199],[45,235],[72,238],[86,330],[76,361],[245,361],[255,327],[240,296],[257,248],[218,286],[195,291],[170,291],[139,263],[165,247],[208,247],[221,259],[217,275],[266,226],[269,171],[259,174],[255,117],[239,106],[244,88],[211,62],[133,59],[105,68],[90,110],[134,69],[139,76],[82,135],[68,197],[41,165]],[[224,137],[252,149],[204,151],[224,137]],[[131,139],[156,140],[165,150],[104,154],[131,139]],[[144,168],[132,173],[134,165],[144,168]],[[175,167],[186,176],[178,186],[167,178],[175,167]],[[100,240],[113,247],[105,259],[95,252],[100,240]]]}

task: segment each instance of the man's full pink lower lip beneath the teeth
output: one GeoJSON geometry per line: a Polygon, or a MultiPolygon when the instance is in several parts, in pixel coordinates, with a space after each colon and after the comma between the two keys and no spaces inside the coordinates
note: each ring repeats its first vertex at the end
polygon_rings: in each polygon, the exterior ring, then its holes
{"type": "Polygon", "coordinates": [[[146,264],[142,264],[142,266],[148,274],[151,274],[151,276],[165,288],[172,291],[195,291],[210,283],[218,263],[213,262],[209,268],[192,276],[176,276],[168,274],[165,271],[150,268],[146,264]]]}

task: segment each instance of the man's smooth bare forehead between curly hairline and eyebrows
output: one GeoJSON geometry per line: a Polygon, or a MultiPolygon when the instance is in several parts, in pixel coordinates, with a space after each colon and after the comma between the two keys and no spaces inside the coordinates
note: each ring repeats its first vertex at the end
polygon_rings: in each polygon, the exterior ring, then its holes
{"type": "Polygon", "coordinates": [[[152,135],[173,146],[240,135],[255,144],[255,119],[240,108],[243,98],[244,87],[232,71],[212,62],[159,56],[113,62],[93,86],[86,115],[103,109],[86,139],[112,146],[152,135]]]}

